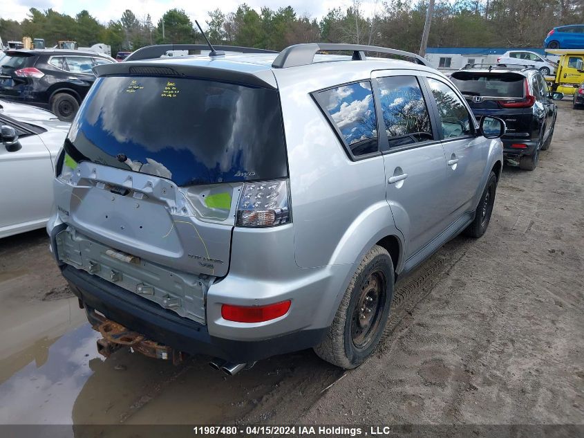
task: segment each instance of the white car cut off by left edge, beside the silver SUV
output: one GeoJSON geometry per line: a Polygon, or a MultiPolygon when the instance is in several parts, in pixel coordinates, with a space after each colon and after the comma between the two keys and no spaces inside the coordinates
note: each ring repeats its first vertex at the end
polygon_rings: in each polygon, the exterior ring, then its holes
{"type": "Polygon", "coordinates": [[[44,109],[0,100],[0,238],[45,226],[69,125],[44,109]]]}

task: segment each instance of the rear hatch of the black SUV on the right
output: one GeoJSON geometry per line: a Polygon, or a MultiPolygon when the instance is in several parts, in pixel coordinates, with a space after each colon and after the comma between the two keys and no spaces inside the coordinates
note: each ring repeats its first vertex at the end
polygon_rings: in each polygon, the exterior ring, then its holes
{"type": "Polygon", "coordinates": [[[505,120],[506,137],[531,130],[534,101],[524,75],[509,71],[455,71],[451,75],[477,118],[496,116],[505,120]]]}

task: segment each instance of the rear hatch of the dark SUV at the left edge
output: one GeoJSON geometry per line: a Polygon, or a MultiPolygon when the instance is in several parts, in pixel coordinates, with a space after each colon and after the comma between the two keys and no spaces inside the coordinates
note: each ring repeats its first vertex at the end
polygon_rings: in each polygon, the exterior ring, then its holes
{"type": "Polygon", "coordinates": [[[11,98],[26,97],[32,77],[41,75],[34,68],[37,55],[26,51],[8,51],[0,60],[0,95],[11,98]]]}

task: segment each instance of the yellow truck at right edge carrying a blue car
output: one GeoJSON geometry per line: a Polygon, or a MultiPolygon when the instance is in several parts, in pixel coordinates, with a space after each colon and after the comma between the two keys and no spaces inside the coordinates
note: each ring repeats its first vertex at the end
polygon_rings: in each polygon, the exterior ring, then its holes
{"type": "Polygon", "coordinates": [[[584,82],[584,49],[545,49],[550,55],[560,57],[555,76],[546,76],[552,92],[572,95],[584,82]]]}

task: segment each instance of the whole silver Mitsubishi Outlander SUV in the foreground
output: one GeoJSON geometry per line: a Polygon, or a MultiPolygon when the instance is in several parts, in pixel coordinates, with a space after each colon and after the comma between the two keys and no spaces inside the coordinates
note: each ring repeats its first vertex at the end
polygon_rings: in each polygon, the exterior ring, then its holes
{"type": "Polygon", "coordinates": [[[100,352],[356,367],[397,279],[487,229],[505,123],[412,53],[170,48],[95,67],[57,164],[47,229],[100,352]]]}

